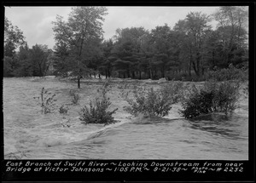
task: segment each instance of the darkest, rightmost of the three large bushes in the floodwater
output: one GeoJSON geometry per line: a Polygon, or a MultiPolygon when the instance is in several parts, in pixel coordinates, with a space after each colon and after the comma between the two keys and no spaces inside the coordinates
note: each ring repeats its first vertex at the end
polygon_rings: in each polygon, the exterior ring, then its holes
{"type": "Polygon", "coordinates": [[[239,82],[206,82],[202,89],[195,88],[182,102],[183,117],[193,118],[211,112],[233,112],[240,97],[239,82]]]}

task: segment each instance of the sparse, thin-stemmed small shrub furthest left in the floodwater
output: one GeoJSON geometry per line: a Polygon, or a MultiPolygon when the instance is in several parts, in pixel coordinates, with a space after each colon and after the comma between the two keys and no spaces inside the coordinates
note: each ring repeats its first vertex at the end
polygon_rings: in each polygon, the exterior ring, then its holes
{"type": "Polygon", "coordinates": [[[42,114],[49,113],[53,110],[53,106],[55,106],[55,94],[49,93],[44,87],[41,90],[41,94],[39,97],[34,97],[34,99],[38,99],[40,102],[40,106],[42,108],[42,114]]]}

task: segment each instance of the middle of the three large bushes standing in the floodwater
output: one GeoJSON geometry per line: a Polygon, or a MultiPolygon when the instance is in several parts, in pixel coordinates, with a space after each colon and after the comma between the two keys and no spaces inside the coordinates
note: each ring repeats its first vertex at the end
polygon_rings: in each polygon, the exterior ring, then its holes
{"type": "Polygon", "coordinates": [[[145,89],[135,86],[133,89],[134,99],[129,99],[125,94],[126,101],[130,106],[125,106],[125,111],[137,116],[139,113],[149,117],[164,117],[172,109],[182,95],[183,83],[171,83],[160,89],[145,89]]]}

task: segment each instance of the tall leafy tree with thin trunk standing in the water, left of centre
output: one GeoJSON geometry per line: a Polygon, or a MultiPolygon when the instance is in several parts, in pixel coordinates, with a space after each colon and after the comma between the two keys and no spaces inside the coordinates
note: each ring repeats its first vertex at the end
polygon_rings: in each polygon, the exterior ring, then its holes
{"type": "Polygon", "coordinates": [[[73,76],[78,79],[78,88],[80,88],[80,79],[88,73],[88,60],[86,54],[89,43],[93,39],[102,37],[102,21],[106,15],[105,7],[75,7],[69,14],[67,22],[61,16],[56,17],[53,22],[56,44],[65,44],[69,51],[67,64],[72,71],[73,76]]]}

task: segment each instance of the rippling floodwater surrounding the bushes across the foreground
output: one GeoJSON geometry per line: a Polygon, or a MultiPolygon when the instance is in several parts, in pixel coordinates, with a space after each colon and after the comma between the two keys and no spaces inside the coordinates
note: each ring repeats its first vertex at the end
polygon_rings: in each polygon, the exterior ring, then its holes
{"type": "Polygon", "coordinates": [[[119,108],[113,115],[119,123],[84,125],[79,120],[80,108],[89,104],[103,82],[87,79],[76,89],[77,83],[55,77],[3,78],[4,158],[248,159],[247,98],[241,98],[230,117],[218,114],[189,121],[180,116],[177,104],[162,119],[131,118],[119,94],[123,80],[115,79],[108,96],[111,108],[119,108]],[[56,94],[55,109],[48,114],[42,114],[38,100],[33,99],[43,87],[56,94]],[[72,104],[70,89],[81,96],[79,104],[72,104]],[[62,104],[69,107],[66,115],[59,113],[62,104]]]}

